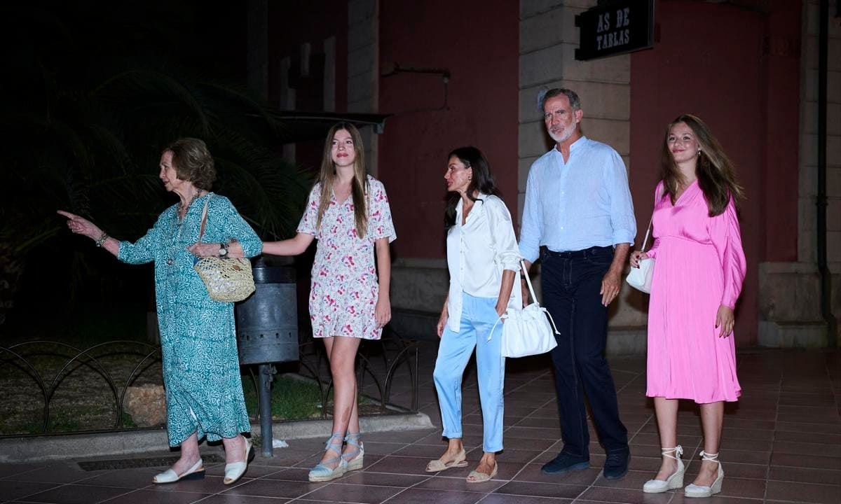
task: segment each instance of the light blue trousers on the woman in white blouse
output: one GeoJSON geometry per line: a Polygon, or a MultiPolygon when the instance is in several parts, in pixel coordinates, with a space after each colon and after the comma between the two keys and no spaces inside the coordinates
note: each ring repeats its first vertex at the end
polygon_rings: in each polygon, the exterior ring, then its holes
{"type": "Polygon", "coordinates": [[[461,326],[458,333],[445,328],[435,362],[435,388],[441,404],[445,438],[462,438],[462,378],[473,349],[484,424],[482,449],[495,453],[502,449],[502,391],[505,385],[505,357],[502,356],[502,323],[488,341],[498,318],[496,298],[463,296],[461,326]]]}

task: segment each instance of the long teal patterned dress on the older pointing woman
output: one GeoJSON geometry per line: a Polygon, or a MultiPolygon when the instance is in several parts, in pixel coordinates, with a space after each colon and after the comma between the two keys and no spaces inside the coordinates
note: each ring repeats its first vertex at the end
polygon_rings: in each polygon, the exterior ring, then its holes
{"type": "Polygon", "coordinates": [[[120,242],[117,255],[133,265],[155,262],[167,430],[172,446],[197,431],[199,440],[206,435],[209,441],[251,431],[236,353],[234,303],[210,299],[187,250],[198,240],[208,197],[202,241],[236,239],[246,257],[260,254],[262,241],[228,198],[209,193],[193,202],[183,220],[178,218],[177,205],[167,208],[143,238],[134,244],[120,242]]]}

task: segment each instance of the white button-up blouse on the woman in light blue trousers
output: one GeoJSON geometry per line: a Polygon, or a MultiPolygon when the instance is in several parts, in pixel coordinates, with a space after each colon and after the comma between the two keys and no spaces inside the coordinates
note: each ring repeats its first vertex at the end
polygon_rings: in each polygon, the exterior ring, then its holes
{"type": "Polygon", "coordinates": [[[462,224],[463,200],[456,205],[456,223],[447,232],[450,296],[447,327],[458,333],[462,321],[462,292],[473,297],[500,297],[502,271],[516,272],[508,307],[521,308],[520,249],[511,214],[499,197],[479,194],[467,222],[462,224]]]}

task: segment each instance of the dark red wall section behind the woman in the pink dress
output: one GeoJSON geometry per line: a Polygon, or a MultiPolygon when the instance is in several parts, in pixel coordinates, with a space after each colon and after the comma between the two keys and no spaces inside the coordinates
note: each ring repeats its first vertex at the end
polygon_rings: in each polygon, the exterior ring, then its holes
{"type": "MultiPolygon", "coordinates": [[[[792,3],[795,4],[795,3],[792,3]]],[[[767,54],[768,40],[799,40],[799,4],[772,13],[724,4],[659,2],[659,40],[632,55],[631,186],[637,226],[651,216],[665,125],[704,119],[737,165],[745,188],[748,260],[737,343],[757,338],[757,265],[796,260],[799,54],[767,54]]],[[[781,52],[781,51],[780,51],[781,52]]]]}

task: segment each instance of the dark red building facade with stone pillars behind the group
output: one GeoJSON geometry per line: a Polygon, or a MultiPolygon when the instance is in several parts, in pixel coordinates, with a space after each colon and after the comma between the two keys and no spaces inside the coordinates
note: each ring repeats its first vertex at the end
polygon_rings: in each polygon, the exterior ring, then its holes
{"type": "MultiPolygon", "coordinates": [[[[841,18],[829,5],[828,71],[818,72],[815,0],[654,3],[652,49],[579,61],[575,16],[594,0],[318,0],[249,3],[249,81],[279,108],[389,115],[366,129],[399,239],[392,305],[401,333],[431,337],[447,293],[447,153],[484,150],[519,222],[532,161],[551,148],[537,94],[569,87],[584,134],[627,165],[637,242],[651,215],[664,128],[680,113],[710,124],[738,166],[748,276],[740,346],[827,346],[818,270],[818,83],[828,90],[825,237],[841,315],[841,18]]],[[[321,141],[284,146],[318,164],[321,141]]],[[[637,244],[638,246],[638,244],[637,244]]],[[[647,297],[625,286],[608,349],[645,349],[647,297]]]]}

